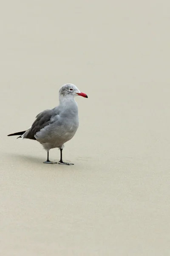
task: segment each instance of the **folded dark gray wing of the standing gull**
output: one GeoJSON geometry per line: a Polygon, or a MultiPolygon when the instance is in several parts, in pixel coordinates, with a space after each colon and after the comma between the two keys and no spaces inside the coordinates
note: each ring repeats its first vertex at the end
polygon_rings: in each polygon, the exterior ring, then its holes
{"type": "Polygon", "coordinates": [[[54,111],[54,109],[47,109],[45,111],[42,111],[36,116],[34,123],[25,132],[25,134],[23,134],[22,137],[26,139],[36,140],[36,138],[34,137],[35,134],[45,126],[55,122],[53,118],[55,115],[56,115],[56,111],[54,111]]]}

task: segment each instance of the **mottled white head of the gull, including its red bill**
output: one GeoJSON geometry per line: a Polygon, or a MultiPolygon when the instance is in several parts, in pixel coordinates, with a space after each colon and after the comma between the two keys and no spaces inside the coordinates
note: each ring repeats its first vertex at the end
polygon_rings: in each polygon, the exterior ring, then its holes
{"type": "Polygon", "coordinates": [[[77,95],[88,98],[87,94],[81,93],[74,84],[64,84],[59,90],[59,97],[72,98],[77,95]]]}

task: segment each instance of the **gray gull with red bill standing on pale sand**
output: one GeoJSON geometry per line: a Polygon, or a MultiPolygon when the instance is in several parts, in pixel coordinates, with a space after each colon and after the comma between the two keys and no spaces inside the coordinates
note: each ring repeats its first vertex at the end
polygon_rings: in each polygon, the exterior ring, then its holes
{"type": "Polygon", "coordinates": [[[73,165],[62,160],[64,144],[71,140],[79,127],[78,105],[76,96],[88,98],[87,94],[80,92],[74,84],[64,84],[59,89],[59,105],[52,109],[40,112],[31,127],[26,131],[20,131],[7,136],[20,135],[18,138],[37,140],[47,151],[47,160],[44,163],[54,164],[49,160],[51,148],[59,148],[59,164],[73,165]]]}

